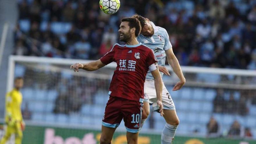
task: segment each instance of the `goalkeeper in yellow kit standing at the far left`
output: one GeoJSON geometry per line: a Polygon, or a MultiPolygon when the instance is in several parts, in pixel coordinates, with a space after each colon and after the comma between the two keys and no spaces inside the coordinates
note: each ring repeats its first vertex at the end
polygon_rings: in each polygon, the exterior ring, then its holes
{"type": "Polygon", "coordinates": [[[1,139],[0,144],[5,144],[12,134],[15,134],[15,144],[21,144],[22,131],[25,129],[25,123],[22,119],[21,103],[22,94],[19,92],[23,86],[21,77],[15,78],[15,88],[6,94],[6,115],[5,122],[7,129],[5,135],[1,139]]]}

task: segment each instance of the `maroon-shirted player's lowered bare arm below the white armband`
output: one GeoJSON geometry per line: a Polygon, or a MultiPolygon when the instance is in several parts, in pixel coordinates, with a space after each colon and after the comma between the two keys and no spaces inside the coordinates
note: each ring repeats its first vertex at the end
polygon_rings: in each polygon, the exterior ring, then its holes
{"type": "Polygon", "coordinates": [[[155,81],[155,88],[157,92],[157,105],[159,106],[160,115],[163,116],[163,104],[162,104],[162,93],[163,93],[163,81],[158,69],[151,72],[155,81]]]}

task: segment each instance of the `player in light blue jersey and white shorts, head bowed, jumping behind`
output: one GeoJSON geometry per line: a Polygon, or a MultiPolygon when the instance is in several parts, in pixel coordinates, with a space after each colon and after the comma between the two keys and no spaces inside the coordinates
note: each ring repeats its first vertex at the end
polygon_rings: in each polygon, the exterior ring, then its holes
{"type": "MultiPolygon", "coordinates": [[[[182,88],[182,86],[186,82],[186,79],[183,76],[179,62],[173,53],[172,45],[170,43],[166,29],[155,26],[154,23],[150,22],[149,19],[140,15],[136,14],[132,17],[136,17],[141,22],[141,34],[137,37],[137,40],[138,42],[141,42],[154,50],[154,53],[158,60],[158,66],[159,71],[161,72],[161,76],[163,76],[163,74],[167,74],[170,76],[168,70],[166,69],[166,67],[164,67],[165,59],[167,57],[168,64],[173,68],[173,71],[180,79],[180,81],[177,82],[177,84],[174,86],[173,91],[182,88]]],[[[156,104],[156,90],[154,87],[154,79],[150,72],[147,73],[146,81],[144,84],[142,125],[150,112],[149,103],[153,104],[153,111],[158,111],[158,106],[156,104]]],[[[173,142],[177,126],[179,125],[179,118],[176,114],[175,105],[170,96],[170,93],[164,85],[162,103],[164,113],[163,117],[166,120],[166,125],[162,132],[161,143],[171,144],[173,142]]]]}

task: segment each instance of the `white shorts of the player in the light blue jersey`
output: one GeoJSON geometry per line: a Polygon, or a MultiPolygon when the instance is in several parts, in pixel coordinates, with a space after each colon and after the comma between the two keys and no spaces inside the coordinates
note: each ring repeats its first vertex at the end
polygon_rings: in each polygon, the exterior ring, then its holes
{"type": "MultiPolygon", "coordinates": [[[[145,80],[144,102],[149,102],[150,104],[153,104],[153,111],[158,110],[157,93],[155,89],[154,79],[145,80]]],[[[162,103],[163,103],[163,109],[175,110],[173,99],[170,96],[170,93],[168,92],[164,84],[163,84],[163,93],[162,93],[162,103]]]]}

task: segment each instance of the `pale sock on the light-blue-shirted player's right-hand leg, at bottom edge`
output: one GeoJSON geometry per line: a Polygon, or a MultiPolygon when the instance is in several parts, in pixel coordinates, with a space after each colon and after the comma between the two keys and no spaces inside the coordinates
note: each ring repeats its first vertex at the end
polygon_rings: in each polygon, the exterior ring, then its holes
{"type": "Polygon", "coordinates": [[[162,131],[161,144],[171,144],[178,125],[170,125],[166,123],[162,131]]]}

